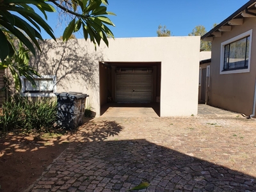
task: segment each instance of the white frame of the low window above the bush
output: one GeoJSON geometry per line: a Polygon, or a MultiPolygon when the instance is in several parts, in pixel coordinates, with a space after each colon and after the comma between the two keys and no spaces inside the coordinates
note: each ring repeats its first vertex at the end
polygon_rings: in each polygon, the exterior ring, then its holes
{"type": "Polygon", "coordinates": [[[42,75],[41,77],[38,76],[33,76],[35,77],[35,79],[40,79],[40,80],[44,80],[44,79],[52,79],[52,83],[53,83],[53,89],[52,92],[36,92],[36,91],[31,91],[28,92],[26,91],[26,87],[25,87],[25,80],[26,77],[21,76],[20,80],[21,80],[21,94],[23,97],[56,97],[55,93],[57,92],[57,88],[56,88],[56,76],[50,76],[50,75],[42,75]]]}

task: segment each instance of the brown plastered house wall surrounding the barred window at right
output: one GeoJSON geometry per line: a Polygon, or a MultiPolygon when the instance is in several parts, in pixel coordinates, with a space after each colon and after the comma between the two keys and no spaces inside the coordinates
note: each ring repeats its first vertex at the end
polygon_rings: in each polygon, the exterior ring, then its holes
{"type": "Polygon", "coordinates": [[[209,104],[220,108],[237,111],[246,115],[252,114],[253,93],[256,74],[256,19],[244,18],[242,26],[232,26],[232,31],[222,32],[221,37],[212,41],[211,90],[209,104]],[[252,54],[250,72],[241,74],[221,74],[221,43],[252,29],[252,54]]]}

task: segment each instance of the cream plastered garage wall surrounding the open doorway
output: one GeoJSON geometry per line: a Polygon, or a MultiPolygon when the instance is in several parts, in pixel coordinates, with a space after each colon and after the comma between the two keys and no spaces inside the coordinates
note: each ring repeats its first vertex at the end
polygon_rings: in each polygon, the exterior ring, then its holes
{"type": "Polygon", "coordinates": [[[97,51],[84,39],[41,44],[31,65],[40,74],[57,76],[57,92],[88,93],[97,116],[105,102],[99,95],[100,61],[161,62],[161,116],[197,114],[199,36],[109,39],[109,47],[102,43],[97,51]]]}

